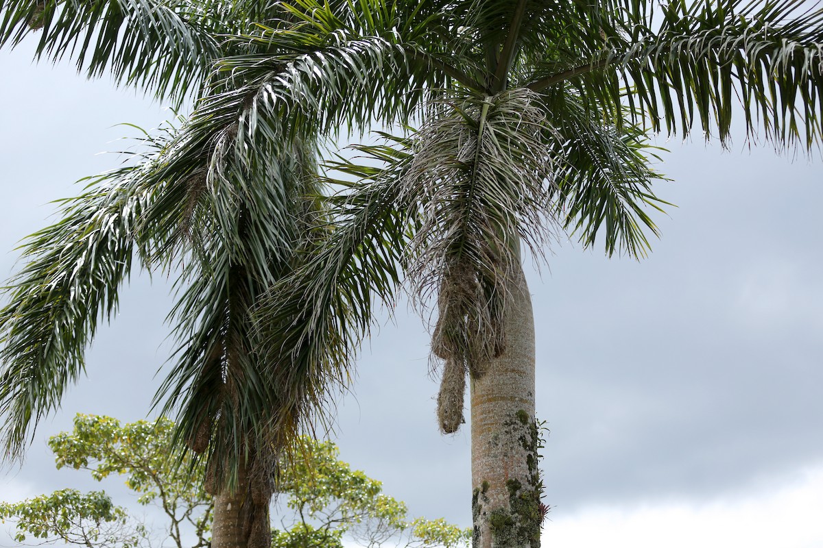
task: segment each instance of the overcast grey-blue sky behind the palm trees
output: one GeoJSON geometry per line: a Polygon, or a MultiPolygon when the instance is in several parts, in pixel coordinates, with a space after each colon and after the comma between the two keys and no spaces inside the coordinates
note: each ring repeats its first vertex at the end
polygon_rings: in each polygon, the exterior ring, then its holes
{"type": "MultiPolygon", "coordinates": [[[[116,165],[95,155],[136,135],[116,124],[170,117],[30,58],[25,44],[0,52],[4,279],[49,200],[116,165]]],[[[742,136],[725,152],[700,139],[659,143],[672,150],[660,168],[674,182],[656,190],[678,207],[656,217],[652,255],[608,260],[563,242],[530,278],[537,416],[551,429],[546,546],[823,546],[823,166],[750,150],[742,136]]],[[[88,379],[40,425],[26,463],[0,471],[0,500],[92,487],[54,470],[44,440],[77,412],[146,417],[169,351],[169,292],[146,276],[123,290],[88,379]]],[[[425,330],[405,303],[395,312],[363,349],[332,437],[412,513],[467,526],[467,427],[439,435],[425,330]]]]}

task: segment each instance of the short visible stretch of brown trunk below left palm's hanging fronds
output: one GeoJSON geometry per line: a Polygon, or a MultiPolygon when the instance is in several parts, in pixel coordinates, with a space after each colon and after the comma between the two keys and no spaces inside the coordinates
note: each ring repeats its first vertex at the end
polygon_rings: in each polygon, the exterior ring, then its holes
{"type": "Polygon", "coordinates": [[[212,548],[269,548],[271,524],[268,505],[271,490],[255,488],[249,466],[237,472],[234,490],[225,488],[214,497],[212,548]]]}

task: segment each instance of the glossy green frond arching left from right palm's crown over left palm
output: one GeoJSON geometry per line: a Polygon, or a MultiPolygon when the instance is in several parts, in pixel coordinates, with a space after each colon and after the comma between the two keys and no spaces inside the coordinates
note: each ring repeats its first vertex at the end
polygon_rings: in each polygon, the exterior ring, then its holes
{"type": "Polygon", "coordinates": [[[440,31],[398,26],[390,12],[381,20],[381,10],[366,13],[346,4],[352,9],[339,13],[335,6],[300,2],[291,6],[298,19],[291,26],[277,21],[230,38],[230,48],[245,53],[216,65],[211,95],[198,105],[189,128],[194,138],[202,140],[215,122],[238,116],[238,131],[249,140],[267,139],[258,127],[276,119],[292,133],[363,131],[412,117],[427,89],[453,80],[477,87],[452,59],[427,48],[440,31]]]}

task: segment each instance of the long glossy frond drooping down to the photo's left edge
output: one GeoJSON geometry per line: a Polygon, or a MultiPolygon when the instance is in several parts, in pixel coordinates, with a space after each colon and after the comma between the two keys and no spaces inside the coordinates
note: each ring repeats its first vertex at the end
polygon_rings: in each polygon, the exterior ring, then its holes
{"type": "Polygon", "coordinates": [[[133,262],[132,233],[149,196],[130,185],[137,168],[92,177],[63,200],[61,219],[21,246],[21,271],[3,288],[0,417],[7,455],[21,456],[40,418],[58,408],[84,367],[98,322],[117,310],[133,262]]]}

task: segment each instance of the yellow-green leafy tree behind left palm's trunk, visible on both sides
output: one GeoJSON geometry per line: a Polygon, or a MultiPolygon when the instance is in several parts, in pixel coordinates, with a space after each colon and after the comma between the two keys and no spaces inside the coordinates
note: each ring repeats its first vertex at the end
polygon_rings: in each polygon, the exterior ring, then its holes
{"type": "MultiPolygon", "coordinates": [[[[77,415],[74,430],[53,436],[49,447],[58,468],[86,470],[97,481],[126,476],[139,504],[154,504],[165,513],[165,535],[173,546],[212,546],[214,500],[203,490],[205,467],[192,458],[174,458],[173,435],[174,424],[165,419],[121,426],[114,418],[77,415]]],[[[299,441],[293,462],[279,463],[275,472],[288,511],[281,515],[283,528],[272,530],[272,548],[331,548],[342,546],[344,538],[375,548],[467,545],[468,530],[444,519],[408,518],[406,505],[384,495],[379,481],[339,460],[332,442],[299,441]]],[[[95,548],[151,546],[151,530],[103,491],[66,489],[0,503],[0,519],[16,524],[19,542],[32,536],[95,548]]]]}

